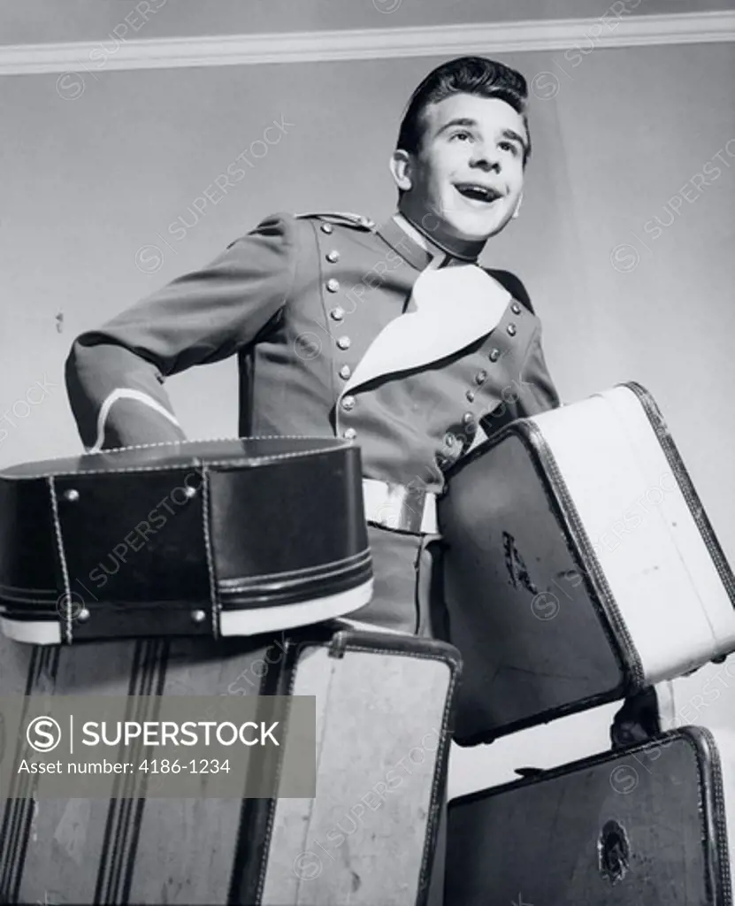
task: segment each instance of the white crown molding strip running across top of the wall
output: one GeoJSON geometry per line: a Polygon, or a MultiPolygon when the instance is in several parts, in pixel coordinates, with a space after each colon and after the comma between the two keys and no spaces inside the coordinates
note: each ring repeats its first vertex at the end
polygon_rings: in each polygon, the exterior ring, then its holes
{"type": "Polygon", "coordinates": [[[735,12],[0,45],[0,75],[735,41],[735,12]]]}

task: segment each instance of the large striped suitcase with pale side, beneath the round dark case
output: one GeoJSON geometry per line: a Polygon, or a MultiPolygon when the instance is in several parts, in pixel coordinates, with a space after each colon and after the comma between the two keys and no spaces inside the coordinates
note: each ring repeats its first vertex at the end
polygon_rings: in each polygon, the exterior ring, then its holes
{"type": "MultiPolygon", "coordinates": [[[[4,694],[314,696],[318,768],[308,799],[147,799],[128,785],[110,800],[35,800],[24,778],[0,802],[0,901],[424,904],[456,651],[342,625],[269,649],[262,639],[2,640],[4,694]]],[[[18,745],[5,741],[0,768],[27,750],[18,745]]]]}

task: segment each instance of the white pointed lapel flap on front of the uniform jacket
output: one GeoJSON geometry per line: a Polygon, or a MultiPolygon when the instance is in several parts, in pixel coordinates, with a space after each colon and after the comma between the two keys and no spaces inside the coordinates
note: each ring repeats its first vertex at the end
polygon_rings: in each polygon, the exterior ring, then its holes
{"type": "Polygon", "coordinates": [[[511,301],[501,284],[478,265],[432,265],[414,284],[416,310],[378,333],[341,395],[385,374],[444,359],[497,327],[511,301]]]}

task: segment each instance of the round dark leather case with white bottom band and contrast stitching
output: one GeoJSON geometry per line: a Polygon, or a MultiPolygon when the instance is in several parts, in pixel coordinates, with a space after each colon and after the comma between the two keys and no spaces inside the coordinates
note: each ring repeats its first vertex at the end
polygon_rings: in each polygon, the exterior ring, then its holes
{"type": "Polygon", "coordinates": [[[347,441],[182,441],[0,472],[0,626],[16,641],[255,635],[371,593],[347,441]]]}

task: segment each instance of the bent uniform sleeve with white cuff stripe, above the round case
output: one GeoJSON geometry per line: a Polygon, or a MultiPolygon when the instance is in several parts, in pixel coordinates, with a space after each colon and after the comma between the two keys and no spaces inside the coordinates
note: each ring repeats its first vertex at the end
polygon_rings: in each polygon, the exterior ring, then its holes
{"type": "Polygon", "coordinates": [[[292,219],[269,217],[202,270],[81,334],[66,387],[84,446],[183,439],[164,381],[254,342],[291,294],[294,246],[292,219]]]}

